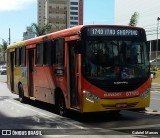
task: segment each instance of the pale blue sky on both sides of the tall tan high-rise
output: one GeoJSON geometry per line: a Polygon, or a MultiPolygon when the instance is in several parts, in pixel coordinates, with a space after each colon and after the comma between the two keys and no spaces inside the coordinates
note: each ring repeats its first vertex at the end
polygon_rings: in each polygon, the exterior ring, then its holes
{"type": "MultiPolygon", "coordinates": [[[[0,44],[21,41],[26,27],[37,23],[37,0],[0,0],[0,44]]],[[[84,24],[113,24],[114,0],[84,0],[84,24]]]]}

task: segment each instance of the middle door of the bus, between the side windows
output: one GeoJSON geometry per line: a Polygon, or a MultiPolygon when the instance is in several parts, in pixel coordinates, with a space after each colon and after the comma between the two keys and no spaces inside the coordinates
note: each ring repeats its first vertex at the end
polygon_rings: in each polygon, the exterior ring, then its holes
{"type": "Polygon", "coordinates": [[[28,85],[29,85],[29,96],[33,97],[34,92],[34,49],[28,49],[28,85]]]}

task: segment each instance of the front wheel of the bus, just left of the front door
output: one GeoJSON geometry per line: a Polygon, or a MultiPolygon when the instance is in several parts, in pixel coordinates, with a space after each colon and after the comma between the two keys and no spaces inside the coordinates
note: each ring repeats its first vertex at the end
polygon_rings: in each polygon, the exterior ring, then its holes
{"type": "Polygon", "coordinates": [[[67,116],[66,103],[62,92],[58,94],[56,107],[59,115],[67,116]]]}

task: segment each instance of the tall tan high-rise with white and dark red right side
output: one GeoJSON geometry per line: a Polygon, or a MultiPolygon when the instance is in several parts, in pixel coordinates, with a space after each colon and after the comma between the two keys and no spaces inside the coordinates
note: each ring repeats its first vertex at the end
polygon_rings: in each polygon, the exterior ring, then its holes
{"type": "Polygon", "coordinates": [[[38,0],[38,25],[52,31],[83,24],[83,0],[38,0]]]}

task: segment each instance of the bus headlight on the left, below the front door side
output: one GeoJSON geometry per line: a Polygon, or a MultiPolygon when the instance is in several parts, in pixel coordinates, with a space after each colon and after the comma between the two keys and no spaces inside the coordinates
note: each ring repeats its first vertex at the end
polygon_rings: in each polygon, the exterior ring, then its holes
{"type": "Polygon", "coordinates": [[[83,93],[85,94],[86,99],[89,100],[90,102],[98,102],[100,100],[98,96],[89,91],[83,91],[83,93]]]}

